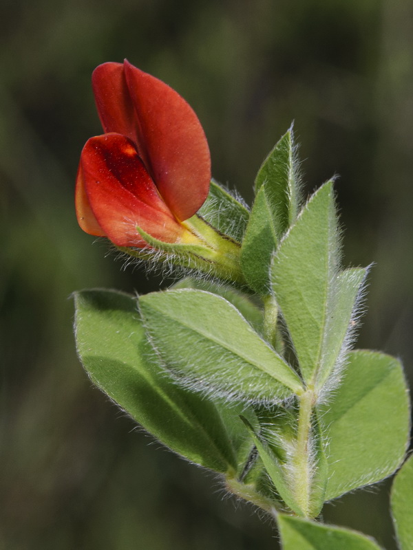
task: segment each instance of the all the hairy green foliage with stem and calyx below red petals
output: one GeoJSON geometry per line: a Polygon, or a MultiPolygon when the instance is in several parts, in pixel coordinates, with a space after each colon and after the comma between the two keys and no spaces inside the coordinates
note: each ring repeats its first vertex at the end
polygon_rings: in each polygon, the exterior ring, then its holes
{"type": "MultiPolygon", "coordinates": [[[[298,212],[288,131],[260,168],[251,215],[213,182],[202,216],[187,221],[200,245],[141,232],[158,250],[152,259],[191,277],[139,299],[76,294],[78,353],[92,380],[162,443],[275,513],[284,550],[378,549],[310,520],[326,501],[392,474],[409,437],[401,364],[350,351],[368,268],[340,265],[332,186],[298,212]]],[[[409,472],[393,492],[401,540],[409,472]]]]}

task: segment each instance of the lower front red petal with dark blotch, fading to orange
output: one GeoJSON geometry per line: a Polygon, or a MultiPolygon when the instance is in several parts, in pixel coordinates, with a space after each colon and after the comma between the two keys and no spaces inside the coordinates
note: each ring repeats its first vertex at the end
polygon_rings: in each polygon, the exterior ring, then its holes
{"type": "Polygon", "coordinates": [[[180,240],[184,228],[162,201],[127,137],[91,137],[82,151],[81,173],[98,226],[115,245],[145,246],[136,225],[160,241],[180,240]]]}

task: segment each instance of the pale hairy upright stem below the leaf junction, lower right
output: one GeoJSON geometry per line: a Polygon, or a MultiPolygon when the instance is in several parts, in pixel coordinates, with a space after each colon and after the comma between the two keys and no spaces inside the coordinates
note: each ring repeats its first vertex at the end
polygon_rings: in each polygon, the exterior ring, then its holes
{"type": "Polygon", "coordinates": [[[310,516],[313,459],[311,450],[311,416],[315,395],[313,388],[306,390],[299,399],[297,443],[293,459],[295,498],[304,516],[310,516]]]}

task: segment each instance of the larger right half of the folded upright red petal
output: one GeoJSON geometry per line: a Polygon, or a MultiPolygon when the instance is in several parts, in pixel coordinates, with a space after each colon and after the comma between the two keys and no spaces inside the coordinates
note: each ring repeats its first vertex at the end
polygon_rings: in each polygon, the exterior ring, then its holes
{"type": "MultiPolygon", "coordinates": [[[[158,78],[125,60],[125,78],[139,121],[138,150],[160,194],[180,220],[204,203],[211,181],[207,138],[189,104],[158,78]]],[[[123,109],[125,111],[125,109],[123,109]]]]}

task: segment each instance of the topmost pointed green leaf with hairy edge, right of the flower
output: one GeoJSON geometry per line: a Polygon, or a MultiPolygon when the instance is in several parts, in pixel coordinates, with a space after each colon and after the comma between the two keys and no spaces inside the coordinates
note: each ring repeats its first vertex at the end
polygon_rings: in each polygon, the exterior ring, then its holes
{"type": "Polygon", "coordinates": [[[297,218],[299,209],[298,162],[293,130],[286,132],[266,157],[255,179],[255,192],[265,185],[266,200],[277,240],[297,218]]]}

